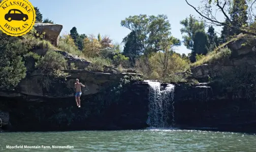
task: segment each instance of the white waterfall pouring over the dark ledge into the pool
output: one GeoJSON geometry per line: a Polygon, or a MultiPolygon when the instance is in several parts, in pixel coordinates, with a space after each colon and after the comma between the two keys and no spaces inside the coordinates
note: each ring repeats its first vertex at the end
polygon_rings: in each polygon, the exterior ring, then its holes
{"type": "Polygon", "coordinates": [[[169,127],[167,120],[168,120],[168,114],[170,105],[172,105],[172,126],[174,126],[174,85],[173,84],[167,84],[167,86],[164,88],[161,88],[160,82],[145,80],[148,82],[150,88],[149,88],[149,94],[148,94],[148,100],[149,100],[149,112],[148,112],[148,120],[147,124],[150,127],[157,127],[157,128],[165,128],[169,127]]]}

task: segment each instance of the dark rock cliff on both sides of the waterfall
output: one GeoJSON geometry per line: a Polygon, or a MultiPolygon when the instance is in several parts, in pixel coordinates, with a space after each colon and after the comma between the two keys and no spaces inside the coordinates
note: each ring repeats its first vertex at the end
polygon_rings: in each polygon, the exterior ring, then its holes
{"type": "MultiPolygon", "coordinates": [[[[55,38],[60,32],[48,26],[54,25],[40,25],[37,30],[55,31],[52,42],[56,44],[55,38]]],[[[244,45],[245,42],[247,39],[244,37],[230,41],[225,46],[232,49],[231,56],[191,68],[191,78],[207,83],[175,83],[174,117],[170,107],[169,124],[174,120],[174,127],[179,128],[209,127],[256,132],[256,106],[248,98],[248,91],[209,80],[221,77],[221,71],[231,76],[232,67],[239,65],[255,70],[254,46],[244,45]]],[[[110,66],[104,66],[102,72],[88,71],[85,69],[91,64],[89,61],[62,50],[55,51],[69,64],[78,65],[78,69],[63,70],[68,73],[66,79],[55,78],[35,70],[34,62],[26,62],[29,67],[27,76],[17,88],[13,91],[0,90],[1,128],[9,131],[59,131],[149,127],[146,123],[149,85],[132,79],[143,78],[142,75],[134,70],[120,71],[110,66]],[[75,104],[73,85],[76,78],[88,89],[82,89],[81,108],[75,104]]],[[[248,87],[249,93],[253,94],[254,87],[248,87]]]]}

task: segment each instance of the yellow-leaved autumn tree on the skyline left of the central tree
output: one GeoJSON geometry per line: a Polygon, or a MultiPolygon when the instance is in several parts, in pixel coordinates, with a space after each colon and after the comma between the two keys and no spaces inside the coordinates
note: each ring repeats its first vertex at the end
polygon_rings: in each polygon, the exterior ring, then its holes
{"type": "Polygon", "coordinates": [[[97,57],[100,54],[102,46],[98,39],[95,38],[93,34],[84,39],[83,53],[87,57],[97,57]]]}

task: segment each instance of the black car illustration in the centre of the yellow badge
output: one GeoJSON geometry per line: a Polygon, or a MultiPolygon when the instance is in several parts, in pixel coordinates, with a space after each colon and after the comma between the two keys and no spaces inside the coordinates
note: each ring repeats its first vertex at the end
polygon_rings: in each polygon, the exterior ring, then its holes
{"type": "Polygon", "coordinates": [[[28,20],[28,16],[26,14],[23,14],[20,10],[12,9],[5,15],[5,19],[9,22],[11,22],[12,20],[26,21],[28,20]]]}

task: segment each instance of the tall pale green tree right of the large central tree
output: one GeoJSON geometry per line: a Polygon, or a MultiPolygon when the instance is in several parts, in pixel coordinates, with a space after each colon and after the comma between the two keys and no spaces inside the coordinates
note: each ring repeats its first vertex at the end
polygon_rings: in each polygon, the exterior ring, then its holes
{"type": "Polygon", "coordinates": [[[180,21],[180,24],[184,26],[180,29],[181,34],[186,34],[182,36],[184,45],[187,49],[193,49],[195,33],[198,30],[205,29],[205,25],[202,22],[198,22],[191,15],[189,15],[189,18],[180,21]]]}

